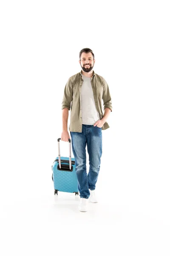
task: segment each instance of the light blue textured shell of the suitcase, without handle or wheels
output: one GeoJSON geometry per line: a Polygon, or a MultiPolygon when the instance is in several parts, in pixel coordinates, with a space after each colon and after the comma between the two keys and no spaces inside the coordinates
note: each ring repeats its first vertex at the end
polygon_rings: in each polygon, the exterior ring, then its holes
{"type": "Polygon", "coordinates": [[[54,160],[52,166],[54,189],[62,192],[78,193],[75,159],[71,158],[71,170],[69,169],[69,157],[61,157],[61,169],[59,169],[58,159],[59,157],[54,160]],[[67,160],[67,162],[64,162],[64,160],[67,160]],[[66,166],[68,170],[62,168],[65,165],[68,165],[66,166]]]}

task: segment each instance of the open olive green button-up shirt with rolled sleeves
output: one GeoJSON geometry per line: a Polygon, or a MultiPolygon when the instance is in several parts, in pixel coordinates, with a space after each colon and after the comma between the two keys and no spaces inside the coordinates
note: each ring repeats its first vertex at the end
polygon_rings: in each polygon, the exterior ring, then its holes
{"type": "MultiPolygon", "coordinates": [[[[83,83],[82,70],[74,76],[71,76],[64,89],[62,99],[62,109],[71,108],[69,131],[82,132],[82,113],[81,113],[81,86],[83,83]]],[[[103,117],[102,100],[104,110],[110,108],[112,111],[112,100],[107,82],[102,76],[97,75],[93,70],[91,77],[91,86],[94,94],[94,102],[99,112],[100,119],[103,117]]],[[[107,122],[102,126],[102,130],[109,128],[107,122]]]]}

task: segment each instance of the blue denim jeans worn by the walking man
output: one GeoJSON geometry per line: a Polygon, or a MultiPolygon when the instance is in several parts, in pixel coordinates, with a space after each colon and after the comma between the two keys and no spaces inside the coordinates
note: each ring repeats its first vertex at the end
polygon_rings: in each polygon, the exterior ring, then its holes
{"type": "Polygon", "coordinates": [[[102,128],[82,125],[82,132],[70,132],[75,158],[80,198],[89,198],[89,189],[96,188],[102,156],[102,128]],[[89,155],[89,172],[86,171],[86,144],[89,155]]]}

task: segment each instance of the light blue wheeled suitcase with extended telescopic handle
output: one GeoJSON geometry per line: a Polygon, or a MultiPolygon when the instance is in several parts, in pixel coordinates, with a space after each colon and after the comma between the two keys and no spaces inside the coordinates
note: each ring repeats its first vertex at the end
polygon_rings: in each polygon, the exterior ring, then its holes
{"type": "Polygon", "coordinates": [[[79,195],[75,159],[71,158],[71,140],[68,139],[69,157],[60,157],[59,140],[61,140],[61,138],[58,139],[58,157],[54,160],[52,165],[54,195],[58,195],[58,191],[79,195]]]}

